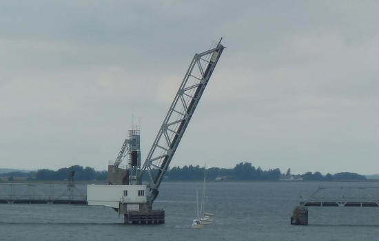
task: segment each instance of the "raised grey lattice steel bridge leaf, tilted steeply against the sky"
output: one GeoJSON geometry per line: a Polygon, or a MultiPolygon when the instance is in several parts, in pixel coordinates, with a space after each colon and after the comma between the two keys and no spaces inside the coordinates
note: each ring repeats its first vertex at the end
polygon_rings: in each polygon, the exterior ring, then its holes
{"type": "Polygon", "coordinates": [[[141,183],[144,172],[147,171],[149,174],[150,196],[148,196],[148,201],[150,205],[158,195],[158,187],[163,180],[163,175],[170,165],[224,48],[220,40],[216,48],[195,54],[188,67],[139,175],[141,183]]]}

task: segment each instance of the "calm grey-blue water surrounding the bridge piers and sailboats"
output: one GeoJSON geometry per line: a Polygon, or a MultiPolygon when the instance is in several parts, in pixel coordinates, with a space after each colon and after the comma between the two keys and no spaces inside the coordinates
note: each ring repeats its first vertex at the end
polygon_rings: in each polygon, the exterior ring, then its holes
{"type": "Polygon", "coordinates": [[[378,240],[379,211],[373,207],[311,207],[308,226],[289,218],[300,194],[318,186],[377,186],[377,183],[208,182],[205,211],[214,223],[191,229],[196,189],[202,183],[165,182],[154,209],[163,225],[123,224],[107,207],[0,205],[0,240],[378,240]]]}

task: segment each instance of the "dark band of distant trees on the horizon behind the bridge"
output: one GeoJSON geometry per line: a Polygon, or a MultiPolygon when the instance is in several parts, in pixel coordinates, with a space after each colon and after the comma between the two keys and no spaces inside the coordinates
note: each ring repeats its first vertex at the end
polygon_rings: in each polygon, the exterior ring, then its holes
{"type": "MultiPolygon", "coordinates": [[[[39,169],[38,171],[12,171],[0,174],[0,177],[8,177],[12,181],[15,177],[23,177],[27,180],[68,180],[68,173],[73,169],[75,171],[74,180],[107,180],[107,171],[95,171],[92,167],[81,167],[79,165],[64,167],[57,171],[50,169],[39,169]]],[[[319,171],[311,171],[303,175],[291,175],[288,169],[286,174],[282,174],[280,169],[269,169],[264,171],[260,167],[256,168],[252,163],[238,163],[234,168],[211,167],[206,170],[208,181],[214,180],[231,180],[231,181],[254,181],[267,180],[278,181],[280,178],[303,178],[304,181],[362,181],[367,180],[365,176],[351,172],[340,172],[338,174],[327,174],[323,176],[319,171]]],[[[172,167],[166,171],[165,180],[167,181],[197,181],[203,180],[204,167],[185,165],[184,167],[172,167]]],[[[143,180],[147,180],[147,175],[143,180]]]]}

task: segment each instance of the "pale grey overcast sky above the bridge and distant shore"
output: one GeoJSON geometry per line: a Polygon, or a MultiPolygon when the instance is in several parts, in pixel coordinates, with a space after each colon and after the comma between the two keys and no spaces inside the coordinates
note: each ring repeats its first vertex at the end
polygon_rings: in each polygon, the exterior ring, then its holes
{"type": "Polygon", "coordinates": [[[143,160],[195,52],[221,56],[171,167],[379,170],[379,1],[1,1],[0,168],[143,160]]]}

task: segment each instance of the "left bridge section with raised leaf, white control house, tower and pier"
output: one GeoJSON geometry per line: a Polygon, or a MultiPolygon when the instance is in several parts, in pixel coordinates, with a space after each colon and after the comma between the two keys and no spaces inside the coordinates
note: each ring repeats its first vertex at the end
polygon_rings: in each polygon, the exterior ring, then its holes
{"type": "Polygon", "coordinates": [[[128,132],[116,160],[108,165],[108,185],[7,184],[0,186],[0,202],[103,205],[124,215],[125,224],[164,223],[165,211],[154,210],[153,202],[225,49],[221,40],[214,48],[194,55],[142,166],[140,132],[135,127],[128,132]],[[126,165],[121,165],[124,159],[126,165]],[[148,184],[142,182],[144,176],[148,184]]]}

